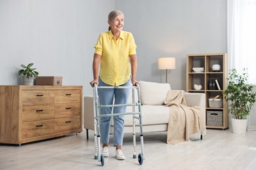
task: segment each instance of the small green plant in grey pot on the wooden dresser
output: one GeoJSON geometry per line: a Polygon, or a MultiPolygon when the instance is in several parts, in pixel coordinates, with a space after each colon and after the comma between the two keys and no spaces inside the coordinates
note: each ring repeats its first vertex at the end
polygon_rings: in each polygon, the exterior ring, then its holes
{"type": "Polygon", "coordinates": [[[33,63],[26,65],[20,65],[23,69],[18,71],[18,75],[22,76],[22,85],[33,86],[34,78],[36,78],[39,73],[35,71],[37,68],[32,68],[33,63]]]}

